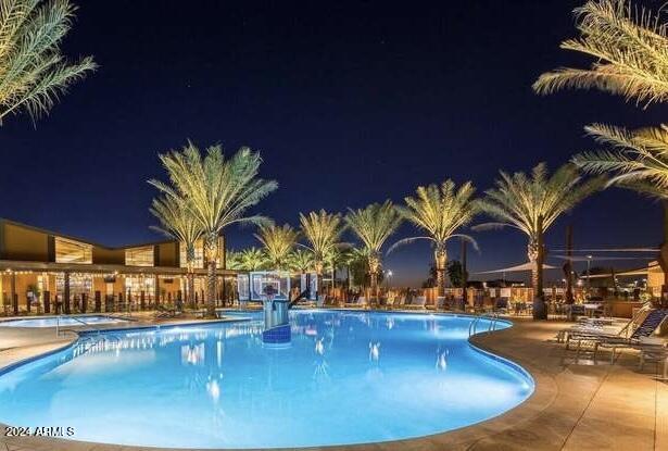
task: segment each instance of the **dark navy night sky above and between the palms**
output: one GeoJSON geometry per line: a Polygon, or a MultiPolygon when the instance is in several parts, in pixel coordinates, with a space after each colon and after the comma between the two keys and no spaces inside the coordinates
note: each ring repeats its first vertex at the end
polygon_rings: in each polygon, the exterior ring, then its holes
{"type": "MultiPolygon", "coordinates": [[[[157,153],[188,138],[260,150],[262,176],[280,188],[256,211],[298,225],[300,211],[401,202],[446,177],[482,191],[500,168],[554,168],[593,148],[588,123],[652,125],[667,113],[598,92],[531,91],[541,72],[587,62],[558,49],[575,36],[578,1],[78,4],[64,52],[101,67],[35,126],[21,115],[0,128],[0,216],[110,246],[161,238],[146,180],[163,177],[157,153]]],[[[563,247],[571,223],[579,248],[656,246],[660,217],[651,200],[610,189],[546,242],[563,247]]],[[[255,243],[252,231],[230,230],[230,246],[255,243]]],[[[472,272],[526,260],[518,231],[476,237],[472,272]]],[[[386,267],[393,283],[418,284],[430,259],[414,245],[386,267]]]]}

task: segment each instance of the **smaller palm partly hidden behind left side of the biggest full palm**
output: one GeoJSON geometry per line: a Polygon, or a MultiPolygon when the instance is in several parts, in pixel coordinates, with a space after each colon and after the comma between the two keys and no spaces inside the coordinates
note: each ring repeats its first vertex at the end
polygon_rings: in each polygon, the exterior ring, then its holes
{"type": "Polygon", "coordinates": [[[187,203],[178,198],[160,197],[153,199],[150,212],[161,224],[152,228],[177,240],[186,248],[188,302],[190,305],[194,305],[194,245],[202,237],[202,227],[190,214],[187,203]]]}

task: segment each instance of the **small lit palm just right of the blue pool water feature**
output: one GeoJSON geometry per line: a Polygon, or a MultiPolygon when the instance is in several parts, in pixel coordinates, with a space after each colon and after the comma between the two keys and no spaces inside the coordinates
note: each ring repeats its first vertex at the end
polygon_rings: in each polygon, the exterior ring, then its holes
{"type": "MultiPolygon", "coordinates": [[[[308,245],[304,246],[313,252],[315,273],[317,276],[318,295],[323,292],[323,270],[325,259],[332,248],[339,247],[339,238],[343,233],[341,214],[327,213],[325,210],[311,212],[308,215],[300,213],[302,236],[308,245]]],[[[302,245],[303,246],[303,245],[302,245]]]]}

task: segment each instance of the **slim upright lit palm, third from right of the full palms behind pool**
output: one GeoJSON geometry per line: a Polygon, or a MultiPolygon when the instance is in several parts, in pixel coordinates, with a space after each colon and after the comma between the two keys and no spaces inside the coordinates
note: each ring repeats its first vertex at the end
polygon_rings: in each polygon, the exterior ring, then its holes
{"type": "Polygon", "coordinates": [[[369,266],[371,296],[378,299],[378,273],[382,266],[381,248],[396,231],[403,217],[390,200],[373,203],[365,209],[348,209],[345,222],[362,241],[364,254],[369,266]]]}

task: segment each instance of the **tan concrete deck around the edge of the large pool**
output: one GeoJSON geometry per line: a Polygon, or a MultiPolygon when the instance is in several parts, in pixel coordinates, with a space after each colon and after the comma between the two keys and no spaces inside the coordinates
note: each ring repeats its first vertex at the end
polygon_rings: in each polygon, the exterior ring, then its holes
{"type": "MultiPolygon", "coordinates": [[[[648,364],[640,373],[633,351],[622,351],[615,365],[607,355],[596,364],[568,352],[553,338],[563,322],[512,318],[515,327],[482,334],[471,342],[522,365],[535,379],[529,400],[490,421],[414,440],[308,450],[664,450],[668,449],[668,384],[648,364]]],[[[184,324],[171,321],[161,324],[184,324]]],[[[134,326],[149,324],[135,323],[134,326]]],[[[117,325],[115,325],[117,326],[117,325]]],[[[16,328],[17,329],[17,328],[16,328]]],[[[0,367],[67,346],[76,337],[56,339],[53,330],[0,330],[0,367]],[[49,338],[50,337],[50,338],[49,338]],[[7,341],[5,341],[7,340],[7,341]],[[7,347],[5,342],[13,343],[7,347]],[[2,348],[10,348],[4,349],[2,348]]],[[[41,426],[41,425],[25,425],[41,426]]],[[[110,425],[111,426],[111,425],[110,425]]],[[[0,433],[4,428],[0,425],[0,433]]],[[[47,438],[0,436],[7,451],[129,451],[156,448],[109,446],[47,438]]]]}

